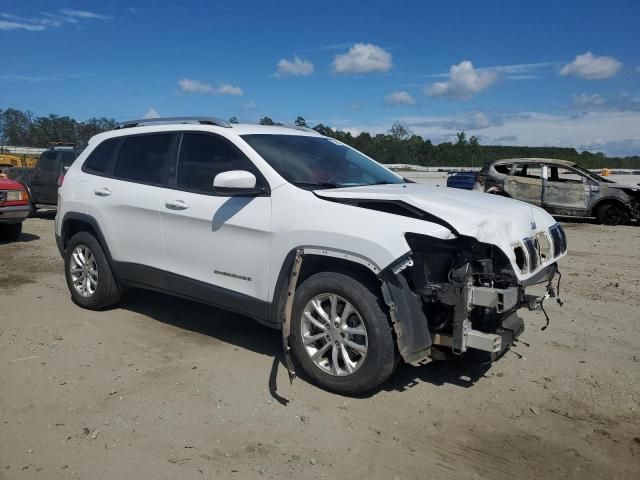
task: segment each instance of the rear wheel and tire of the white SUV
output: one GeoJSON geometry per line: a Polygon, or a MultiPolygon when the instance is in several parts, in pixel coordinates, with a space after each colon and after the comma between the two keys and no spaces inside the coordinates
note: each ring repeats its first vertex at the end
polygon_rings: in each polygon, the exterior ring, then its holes
{"type": "Polygon", "coordinates": [[[83,308],[108,308],[122,298],[104,250],[88,232],[71,237],[65,251],[64,271],[71,298],[83,308]]]}

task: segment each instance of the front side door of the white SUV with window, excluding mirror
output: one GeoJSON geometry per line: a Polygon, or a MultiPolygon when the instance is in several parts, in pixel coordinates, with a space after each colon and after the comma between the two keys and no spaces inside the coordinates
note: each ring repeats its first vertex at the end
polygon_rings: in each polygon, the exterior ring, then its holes
{"type": "Polygon", "coordinates": [[[261,316],[268,293],[271,197],[213,191],[219,173],[245,170],[268,184],[229,140],[185,132],[161,202],[169,282],[177,293],[261,316]]]}

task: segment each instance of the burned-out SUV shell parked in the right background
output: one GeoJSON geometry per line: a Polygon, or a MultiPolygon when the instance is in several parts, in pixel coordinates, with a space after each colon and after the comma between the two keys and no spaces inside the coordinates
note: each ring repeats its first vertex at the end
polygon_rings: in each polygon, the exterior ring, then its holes
{"type": "Polygon", "coordinates": [[[574,162],[512,158],[486,164],[480,190],[538,205],[558,216],[593,217],[604,225],[640,220],[640,187],[601,177],[574,162]]]}

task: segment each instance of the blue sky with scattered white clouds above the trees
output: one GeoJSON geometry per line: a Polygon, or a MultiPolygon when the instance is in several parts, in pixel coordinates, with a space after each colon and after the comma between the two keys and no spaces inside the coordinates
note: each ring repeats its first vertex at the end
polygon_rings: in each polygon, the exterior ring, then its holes
{"type": "Polygon", "coordinates": [[[637,1],[0,0],[0,108],[640,154],[637,1]]]}

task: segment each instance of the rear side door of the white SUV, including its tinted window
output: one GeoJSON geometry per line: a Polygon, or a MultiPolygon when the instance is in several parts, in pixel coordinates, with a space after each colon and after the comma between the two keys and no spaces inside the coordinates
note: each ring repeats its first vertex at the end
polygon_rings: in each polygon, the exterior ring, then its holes
{"type": "Polygon", "coordinates": [[[111,139],[91,153],[89,214],[98,221],[119,276],[166,288],[160,202],[176,148],[173,133],[111,139]],[[101,150],[102,149],[102,150],[101,150]]]}

